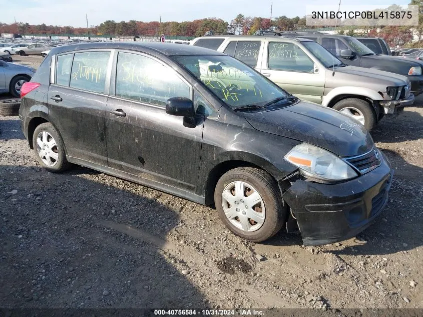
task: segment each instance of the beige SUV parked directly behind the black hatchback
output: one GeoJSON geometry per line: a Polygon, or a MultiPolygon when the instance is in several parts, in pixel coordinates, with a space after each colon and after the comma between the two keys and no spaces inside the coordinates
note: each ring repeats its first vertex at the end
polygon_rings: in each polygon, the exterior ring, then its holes
{"type": "Polygon", "coordinates": [[[309,39],[204,36],[191,45],[234,56],[296,97],[347,114],[369,131],[385,114],[414,102],[406,77],[346,66],[309,39]]]}

